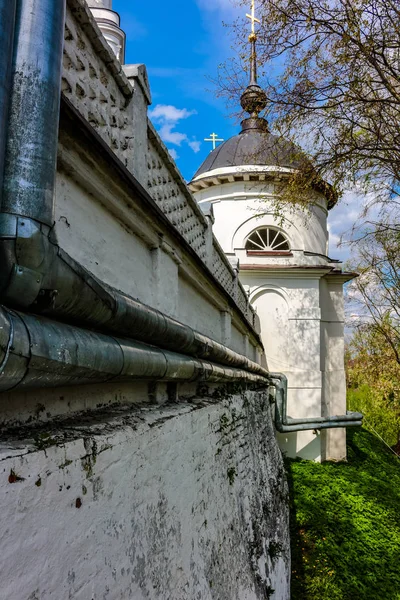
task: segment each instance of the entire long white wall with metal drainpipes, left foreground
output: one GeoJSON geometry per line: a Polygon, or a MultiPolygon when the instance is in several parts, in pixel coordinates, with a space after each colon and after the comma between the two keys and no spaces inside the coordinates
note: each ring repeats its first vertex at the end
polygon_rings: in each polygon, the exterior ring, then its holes
{"type": "Polygon", "coordinates": [[[61,72],[63,9],[17,0],[2,593],[286,600],[287,485],[257,319],[147,123],[145,70],[129,71],[132,88],[69,0],[61,72]]]}

